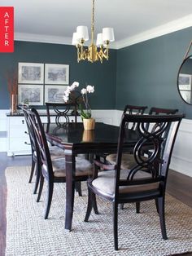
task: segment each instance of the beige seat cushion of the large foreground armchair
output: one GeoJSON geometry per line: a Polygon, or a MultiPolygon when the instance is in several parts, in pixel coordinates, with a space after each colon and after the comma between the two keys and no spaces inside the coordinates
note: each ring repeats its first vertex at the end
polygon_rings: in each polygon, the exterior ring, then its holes
{"type": "MultiPolygon", "coordinates": [[[[92,186],[97,188],[100,192],[104,192],[109,196],[115,194],[115,172],[116,170],[101,171],[98,173],[98,178],[94,179],[92,186]]],[[[127,179],[129,170],[120,171],[120,179],[127,179]]],[[[134,179],[151,178],[151,174],[144,171],[137,171],[134,175],[134,179]]],[[[147,183],[142,185],[122,186],[120,187],[120,193],[134,193],[134,192],[147,192],[159,188],[159,182],[147,183]]]]}

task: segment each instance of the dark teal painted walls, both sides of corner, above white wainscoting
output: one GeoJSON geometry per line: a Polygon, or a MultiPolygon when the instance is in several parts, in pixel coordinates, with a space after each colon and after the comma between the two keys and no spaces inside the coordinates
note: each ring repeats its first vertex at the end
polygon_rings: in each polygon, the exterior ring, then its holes
{"type": "Polygon", "coordinates": [[[179,108],[192,119],[192,106],[177,90],[177,72],[190,44],[192,28],[137,43],[118,51],[110,50],[103,64],[76,62],[74,46],[15,42],[15,52],[0,54],[0,108],[9,108],[5,73],[18,62],[69,64],[69,80],[95,86],[91,107],[123,109],[125,104],[179,108]]]}

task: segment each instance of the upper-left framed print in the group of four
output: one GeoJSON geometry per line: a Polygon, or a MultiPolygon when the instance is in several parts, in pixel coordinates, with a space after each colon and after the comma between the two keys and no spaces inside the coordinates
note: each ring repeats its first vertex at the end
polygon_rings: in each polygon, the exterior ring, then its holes
{"type": "Polygon", "coordinates": [[[44,64],[19,62],[18,72],[19,83],[37,84],[44,82],[44,64]]]}

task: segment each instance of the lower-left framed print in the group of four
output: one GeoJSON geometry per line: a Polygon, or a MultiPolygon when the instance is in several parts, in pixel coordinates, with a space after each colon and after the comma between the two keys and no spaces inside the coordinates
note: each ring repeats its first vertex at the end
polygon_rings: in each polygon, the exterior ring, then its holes
{"type": "Polygon", "coordinates": [[[43,105],[43,86],[18,85],[18,102],[24,104],[26,101],[29,105],[43,105]]]}

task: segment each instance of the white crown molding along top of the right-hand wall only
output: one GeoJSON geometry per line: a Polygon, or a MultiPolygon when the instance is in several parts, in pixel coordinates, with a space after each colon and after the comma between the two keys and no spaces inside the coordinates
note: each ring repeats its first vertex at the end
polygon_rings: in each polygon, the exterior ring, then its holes
{"type": "Polygon", "coordinates": [[[152,38],[158,38],[168,33],[176,32],[181,29],[186,29],[192,26],[192,15],[186,15],[185,17],[173,20],[167,24],[155,27],[154,29],[146,30],[143,33],[138,33],[137,35],[129,38],[125,38],[119,42],[116,42],[116,49],[124,48],[126,46],[131,46],[138,42],[144,42],[152,38]]]}

